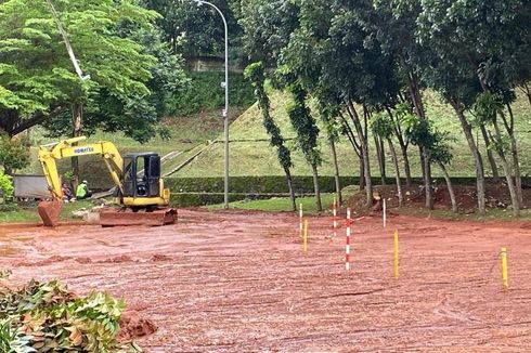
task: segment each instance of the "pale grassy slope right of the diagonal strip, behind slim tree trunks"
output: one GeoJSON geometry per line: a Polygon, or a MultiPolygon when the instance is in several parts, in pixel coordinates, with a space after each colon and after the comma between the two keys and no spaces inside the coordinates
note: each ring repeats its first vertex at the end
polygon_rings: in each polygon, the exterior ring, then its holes
{"type": "MultiPolygon", "coordinates": [[[[468,145],[463,136],[459,122],[452,109],[443,104],[440,97],[427,92],[426,99],[428,115],[436,121],[436,126],[442,131],[449,131],[451,136],[455,139],[453,143],[454,161],[450,167],[450,172],[453,176],[474,176],[474,162],[468,151],[468,145]]],[[[285,112],[285,106],[288,102],[287,95],[281,92],[271,93],[272,115],[282,129],[285,138],[294,138],[295,132],[290,128],[288,117],[285,112]]],[[[517,118],[517,133],[520,147],[520,157],[523,174],[531,173],[531,154],[526,153],[531,147],[531,113],[528,103],[520,99],[514,105],[515,115],[517,118]]],[[[221,136],[220,136],[221,138],[221,136]]],[[[261,115],[257,105],[250,107],[231,126],[230,157],[231,157],[231,175],[271,175],[283,174],[279,167],[275,151],[269,146],[268,142],[248,142],[238,140],[249,139],[268,139],[267,132],[261,123],[261,115]]],[[[370,141],[370,143],[372,140],[370,141]]],[[[484,144],[479,140],[480,147],[484,153],[484,144]]],[[[294,146],[293,141],[288,141],[289,146],[294,146]]],[[[333,166],[331,153],[327,143],[321,139],[320,149],[323,156],[323,165],[320,168],[320,173],[323,175],[333,175],[333,166]]],[[[353,153],[351,146],[345,139],[339,143],[338,159],[340,170],[346,175],[358,174],[358,157],[353,153]]],[[[379,175],[379,170],[376,164],[375,153],[372,158],[372,171],[374,175],[379,175]]],[[[293,173],[296,175],[309,175],[310,168],[307,166],[300,152],[296,151],[293,154],[295,167],[293,173]]],[[[410,148],[410,162],[413,174],[420,175],[420,168],[416,148],[410,148]]],[[[485,170],[488,169],[485,160],[485,170]]],[[[391,176],[392,165],[390,155],[387,156],[387,173],[391,176]]],[[[177,176],[220,176],[223,174],[223,149],[221,144],[217,144],[208,148],[199,158],[192,162],[189,167],[177,173],[177,176]]],[[[438,169],[433,169],[436,176],[441,176],[438,169]]]]}

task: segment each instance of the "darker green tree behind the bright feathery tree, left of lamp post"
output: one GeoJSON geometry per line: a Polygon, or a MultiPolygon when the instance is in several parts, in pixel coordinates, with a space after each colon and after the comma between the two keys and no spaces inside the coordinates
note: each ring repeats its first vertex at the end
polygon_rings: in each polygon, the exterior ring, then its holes
{"type": "MultiPolygon", "coordinates": [[[[90,135],[98,130],[124,131],[135,141],[146,143],[157,132],[163,136],[166,133],[164,129],[157,129],[156,123],[168,114],[170,100],[187,83],[183,70],[184,62],[180,55],[169,52],[155,28],[122,25],[119,32],[120,36],[142,44],[144,54],[156,57],[156,64],[150,68],[151,78],[145,82],[151,93],[122,97],[107,90],[101,90],[83,106],[80,133],[90,135]]],[[[66,136],[72,132],[69,121],[72,115],[69,112],[64,112],[47,120],[44,127],[50,136],[66,136]]]]}

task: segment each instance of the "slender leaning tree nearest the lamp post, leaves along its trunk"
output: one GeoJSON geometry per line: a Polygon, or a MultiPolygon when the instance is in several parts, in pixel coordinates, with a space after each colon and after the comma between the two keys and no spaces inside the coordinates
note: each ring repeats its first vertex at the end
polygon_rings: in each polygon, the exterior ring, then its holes
{"type": "Polygon", "coordinates": [[[292,154],[289,149],[286,147],[285,140],[282,136],[281,129],[275,123],[274,119],[270,114],[270,101],[269,96],[266,93],[264,83],[266,83],[266,74],[263,64],[261,62],[250,64],[245,68],[244,73],[245,77],[250,80],[252,87],[255,88],[255,94],[258,100],[258,106],[262,112],[263,117],[263,127],[268,131],[271,136],[270,144],[273,147],[276,147],[276,157],[279,162],[284,169],[284,173],[286,174],[287,187],[289,189],[289,198],[292,200],[292,211],[297,210],[297,205],[295,202],[295,191],[293,184],[292,172],[289,168],[293,167],[292,164],[292,154]]]}

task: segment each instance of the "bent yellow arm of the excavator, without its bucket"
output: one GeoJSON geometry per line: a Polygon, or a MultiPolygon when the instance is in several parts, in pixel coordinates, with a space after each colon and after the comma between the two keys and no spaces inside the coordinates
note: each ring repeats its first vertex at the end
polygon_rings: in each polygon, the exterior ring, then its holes
{"type": "Polygon", "coordinates": [[[79,136],[40,146],[39,161],[42,166],[48,187],[54,199],[61,200],[63,198],[56,160],[87,155],[100,155],[103,157],[115,185],[124,193],[124,185],[121,183],[124,161],[116,146],[111,142],[104,141],[87,145],[74,145],[86,139],[85,136],[79,136]]]}

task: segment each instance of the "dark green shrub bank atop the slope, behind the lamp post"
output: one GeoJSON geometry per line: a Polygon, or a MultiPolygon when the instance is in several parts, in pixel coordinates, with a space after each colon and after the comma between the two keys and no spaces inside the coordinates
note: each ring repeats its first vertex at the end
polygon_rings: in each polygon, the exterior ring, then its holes
{"type": "MultiPolygon", "coordinates": [[[[224,73],[190,73],[186,89],[168,99],[167,113],[173,116],[191,116],[224,105],[224,73]]],[[[241,74],[229,74],[229,102],[235,107],[247,107],[255,103],[252,87],[241,74]]]]}

